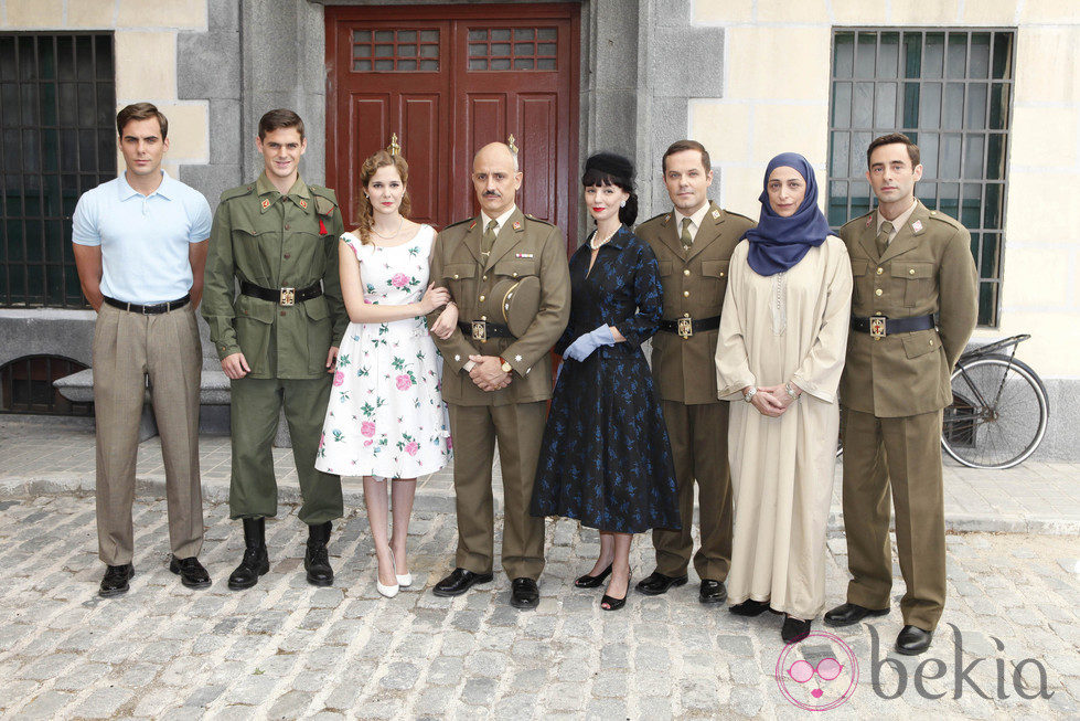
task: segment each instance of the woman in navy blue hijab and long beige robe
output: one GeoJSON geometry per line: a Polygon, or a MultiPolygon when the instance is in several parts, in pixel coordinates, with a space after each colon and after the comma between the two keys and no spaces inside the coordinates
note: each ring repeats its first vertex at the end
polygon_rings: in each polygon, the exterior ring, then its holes
{"type": "Polygon", "coordinates": [[[718,395],[736,401],[728,598],[741,616],[784,614],[790,644],[806,637],[825,602],[852,267],[817,208],[805,158],[773,158],[758,200],[760,221],[731,255],[716,348],[718,395]]]}

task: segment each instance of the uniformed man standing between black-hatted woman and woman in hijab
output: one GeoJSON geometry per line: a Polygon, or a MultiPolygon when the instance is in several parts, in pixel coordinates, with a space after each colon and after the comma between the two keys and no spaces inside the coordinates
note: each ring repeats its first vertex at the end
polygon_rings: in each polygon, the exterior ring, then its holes
{"type": "Polygon", "coordinates": [[[638,590],[656,595],[686,583],[694,550],[696,479],[702,531],[702,547],[694,555],[702,579],[698,600],[721,603],[731,565],[731,475],[728,404],[716,396],[714,356],[731,251],[755,223],[709,202],[713,171],[699,142],[672,144],[662,163],[674,209],[645,221],[637,233],[656,254],[664,285],[664,320],[652,339],[652,373],[674,453],[683,528],[653,530],[656,570],[638,583],[638,590]]]}

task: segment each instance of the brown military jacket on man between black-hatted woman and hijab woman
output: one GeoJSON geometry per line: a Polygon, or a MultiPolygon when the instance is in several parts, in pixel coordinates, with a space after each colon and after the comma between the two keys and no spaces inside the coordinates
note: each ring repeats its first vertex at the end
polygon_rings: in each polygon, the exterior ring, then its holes
{"type": "MultiPolygon", "coordinates": [[[[664,286],[664,320],[704,320],[720,315],[731,252],[755,222],[709,203],[694,244],[683,248],[673,211],[638,226],[660,264],[664,286]]],[[[652,338],[652,375],[660,397],[686,404],[718,403],[716,342],[719,330],[681,338],[665,330],[652,338]]]]}

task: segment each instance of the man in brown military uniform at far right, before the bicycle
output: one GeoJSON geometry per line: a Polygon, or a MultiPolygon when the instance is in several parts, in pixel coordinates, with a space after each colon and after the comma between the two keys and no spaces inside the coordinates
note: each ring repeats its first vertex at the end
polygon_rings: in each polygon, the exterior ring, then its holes
{"type": "Polygon", "coordinates": [[[891,488],[907,584],[896,650],[915,655],[930,647],[945,602],[941,412],[975,327],[979,278],[964,226],[915,198],[918,146],[900,134],[883,136],[867,161],[878,209],[841,230],[855,279],[840,389],[853,577],[847,603],[826,613],[825,623],[846,626],[889,611],[891,488]]]}

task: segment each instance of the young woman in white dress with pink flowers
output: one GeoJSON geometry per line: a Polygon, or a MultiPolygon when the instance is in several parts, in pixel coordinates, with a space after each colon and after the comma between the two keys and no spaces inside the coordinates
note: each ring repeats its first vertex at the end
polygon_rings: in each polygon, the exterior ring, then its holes
{"type": "MultiPolygon", "coordinates": [[[[338,246],[349,328],[316,467],[363,476],[378,592],[408,586],[406,538],[416,477],[450,460],[450,425],[439,388],[441,358],[425,316],[449,300],[428,285],[435,229],[409,221],[408,163],[379,150],[361,169],[360,227],[338,246]],[[394,530],[387,531],[385,481],[393,479],[394,530]]],[[[436,324],[452,326],[447,314],[436,324]],[[443,322],[446,321],[446,322],[443,322]]],[[[446,331],[449,333],[449,331],[446,331]]]]}

